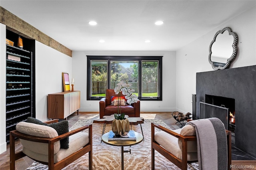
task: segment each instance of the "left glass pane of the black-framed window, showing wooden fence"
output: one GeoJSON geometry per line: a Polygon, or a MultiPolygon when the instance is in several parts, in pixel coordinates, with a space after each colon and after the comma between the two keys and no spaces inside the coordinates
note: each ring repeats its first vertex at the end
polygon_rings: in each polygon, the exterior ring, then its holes
{"type": "Polygon", "coordinates": [[[108,61],[91,60],[91,97],[105,97],[108,85],[108,61]]]}

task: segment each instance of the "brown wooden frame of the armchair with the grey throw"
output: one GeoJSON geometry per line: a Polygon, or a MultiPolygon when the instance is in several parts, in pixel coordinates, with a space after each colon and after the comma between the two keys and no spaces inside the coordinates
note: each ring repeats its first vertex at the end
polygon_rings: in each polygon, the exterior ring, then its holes
{"type": "MultiPolygon", "coordinates": [[[[228,170],[230,170],[230,164],[231,164],[231,132],[229,130],[226,130],[227,134],[227,142],[228,142],[228,170]]],[[[187,164],[192,162],[198,162],[195,161],[188,161],[188,141],[195,141],[196,136],[182,136],[172,130],[169,130],[165,127],[162,127],[160,125],[155,125],[154,123],[151,123],[151,169],[155,169],[155,150],[158,151],[160,154],[162,154],[165,158],[170,160],[172,163],[174,163],[176,166],[178,166],[182,170],[187,169],[187,164]],[[164,132],[180,139],[182,141],[182,159],[177,158],[174,156],[174,154],[170,153],[168,150],[160,146],[155,139],[155,128],[158,128],[160,130],[163,130],[164,132]]],[[[177,146],[178,147],[178,146],[177,146]]]]}

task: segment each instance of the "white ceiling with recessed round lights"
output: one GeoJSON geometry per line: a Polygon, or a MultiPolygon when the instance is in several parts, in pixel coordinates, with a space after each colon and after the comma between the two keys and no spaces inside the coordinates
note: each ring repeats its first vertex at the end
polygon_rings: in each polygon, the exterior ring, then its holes
{"type": "Polygon", "coordinates": [[[0,0],[54,40],[83,51],[175,51],[255,5],[256,0],[0,0]],[[91,20],[98,24],[90,26],[91,20]],[[164,24],[156,26],[157,20],[164,24]]]}

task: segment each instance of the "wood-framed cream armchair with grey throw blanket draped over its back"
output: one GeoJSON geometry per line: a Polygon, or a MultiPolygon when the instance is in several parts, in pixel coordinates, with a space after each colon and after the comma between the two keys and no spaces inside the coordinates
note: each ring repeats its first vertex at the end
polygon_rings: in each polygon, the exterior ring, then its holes
{"type": "Polygon", "coordinates": [[[156,163],[155,150],[182,170],[197,161],[200,170],[230,169],[231,132],[225,130],[218,118],[190,121],[177,130],[152,123],[151,133],[152,169],[156,163]]]}

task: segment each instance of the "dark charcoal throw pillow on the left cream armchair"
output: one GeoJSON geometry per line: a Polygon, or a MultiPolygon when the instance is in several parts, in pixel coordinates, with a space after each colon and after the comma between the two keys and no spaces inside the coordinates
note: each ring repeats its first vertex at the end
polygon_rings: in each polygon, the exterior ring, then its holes
{"type": "MultiPolygon", "coordinates": [[[[52,127],[58,132],[58,135],[69,132],[68,121],[60,121],[57,123],[47,124],[47,123],[43,123],[42,121],[35,119],[33,117],[28,117],[26,122],[52,127]]],[[[60,148],[63,148],[63,149],[69,148],[69,137],[60,140],[60,148]]]]}

